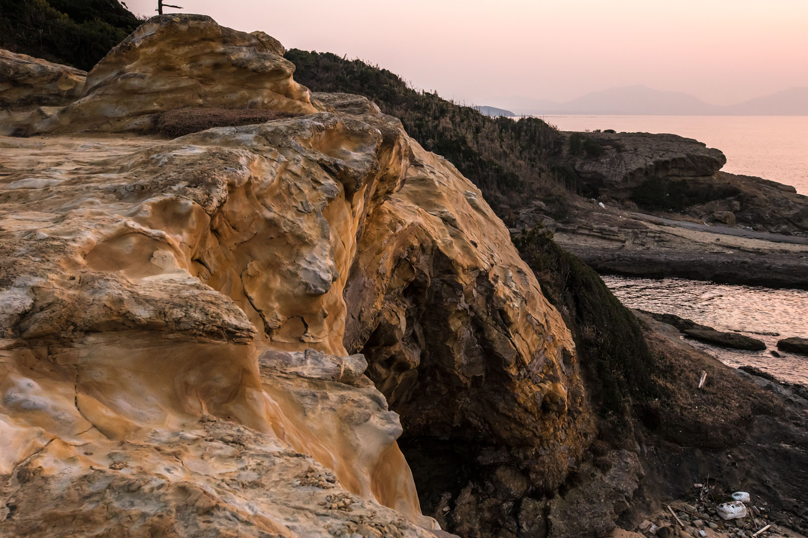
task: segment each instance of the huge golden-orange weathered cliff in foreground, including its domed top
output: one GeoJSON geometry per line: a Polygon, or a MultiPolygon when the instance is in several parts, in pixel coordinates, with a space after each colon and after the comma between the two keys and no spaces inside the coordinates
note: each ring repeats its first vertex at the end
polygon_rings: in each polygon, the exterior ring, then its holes
{"type": "Polygon", "coordinates": [[[0,534],[427,536],[388,405],[489,440],[509,498],[576,465],[574,343],[503,223],[282,52],[156,17],[0,138],[0,534]],[[142,134],[185,106],[304,115],[142,134]]]}

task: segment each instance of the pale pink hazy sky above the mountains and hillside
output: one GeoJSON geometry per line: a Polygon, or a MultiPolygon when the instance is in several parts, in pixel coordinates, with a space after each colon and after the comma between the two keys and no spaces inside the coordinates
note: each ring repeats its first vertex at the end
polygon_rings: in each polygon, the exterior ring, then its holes
{"type": "MultiPolygon", "coordinates": [[[[124,1],[137,15],[157,5],[124,1]]],[[[168,1],[467,104],[634,84],[732,104],[808,85],[808,0],[168,1]]]]}

